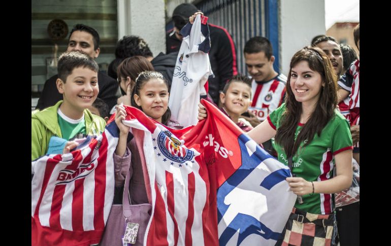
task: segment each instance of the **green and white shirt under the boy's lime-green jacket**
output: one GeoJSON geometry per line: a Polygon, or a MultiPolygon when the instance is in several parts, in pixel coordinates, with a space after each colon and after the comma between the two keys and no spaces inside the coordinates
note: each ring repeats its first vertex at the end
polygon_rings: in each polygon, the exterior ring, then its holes
{"type": "Polygon", "coordinates": [[[58,125],[60,126],[62,138],[71,140],[72,138],[82,138],[86,136],[85,120],[83,117],[79,120],[73,120],[64,115],[60,109],[57,110],[58,125]]]}

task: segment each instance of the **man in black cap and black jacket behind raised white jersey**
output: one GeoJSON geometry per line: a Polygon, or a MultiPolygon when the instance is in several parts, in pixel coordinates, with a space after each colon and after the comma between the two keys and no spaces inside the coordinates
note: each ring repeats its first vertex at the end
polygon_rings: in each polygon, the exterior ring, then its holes
{"type": "MultiPolygon", "coordinates": [[[[180,4],[173,12],[174,28],[166,35],[166,53],[178,52],[181,47],[182,35],[180,30],[189,21],[189,17],[198,12],[196,6],[192,4],[180,4]]],[[[230,33],[222,28],[208,23],[211,49],[209,60],[214,74],[214,78],[209,77],[209,94],[217,104],[219,91],[223,90],[225,83],[236,75],[236,47],[230,33]]]]}

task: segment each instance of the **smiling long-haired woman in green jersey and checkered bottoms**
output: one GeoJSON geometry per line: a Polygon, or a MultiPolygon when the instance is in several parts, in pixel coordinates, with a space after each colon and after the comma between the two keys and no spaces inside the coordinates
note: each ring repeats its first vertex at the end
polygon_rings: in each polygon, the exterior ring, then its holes
{"type": "MultiPolygon", "coordinates": [[[[290,61],[285,103],[248,132],[257,144],[275,136],[278,160],[293,176],[286,181],[299,196],[276,245],[335,243],[332,194],[351,185],[353,149],[349,123],[336,106],[337,78],[329,58],[305,47],[290,61]]],[[[200,106],[199,119],[205,117],[200,106]]]]}

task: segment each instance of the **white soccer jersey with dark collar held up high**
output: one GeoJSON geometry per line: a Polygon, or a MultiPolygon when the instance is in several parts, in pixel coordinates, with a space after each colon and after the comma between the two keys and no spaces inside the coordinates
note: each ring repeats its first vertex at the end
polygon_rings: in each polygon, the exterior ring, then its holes
{"type": "Polygon", "coordinates": [[[197,124],[200,95],[206,95],[204,85],[212,75],[208,52],[208,25],[201,24],[201,15],[181,30],[183,41],[175,64],[169,107],[171,119],[182,126],[197,124]]]}

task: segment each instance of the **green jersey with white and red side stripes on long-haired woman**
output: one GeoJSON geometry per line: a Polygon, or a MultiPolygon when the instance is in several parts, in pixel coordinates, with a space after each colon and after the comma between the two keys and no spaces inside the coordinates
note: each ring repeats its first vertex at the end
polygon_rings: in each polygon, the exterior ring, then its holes
{"type": "MultiPolygon", "coordinates": [[[[280,127],[284,112],[285,103],[268,116],[268,121],[274,129],[280,127]]],[[[295,140],[303,126],[299,124],[296,128],[295,140]]],[[[309,182],[331,179],[335,166],[334,155],[353,149],[348,121],[336,110],[320,136],[315,133],[312,141],[304,148],[303,145],[304,142],[300,144],[297,154],[292,158],[292,173],[309,182]]],[[[282,147],[275,143],[274,148],[278,153],[278,160],[288,165],[288,158],[282,147]]],[[[314,193],[312,196],[308,194],[303,196],[303,200],[303,204],[296,202],[295,207],[311,214],[333,213],[332,194],[314,193]]]]}

